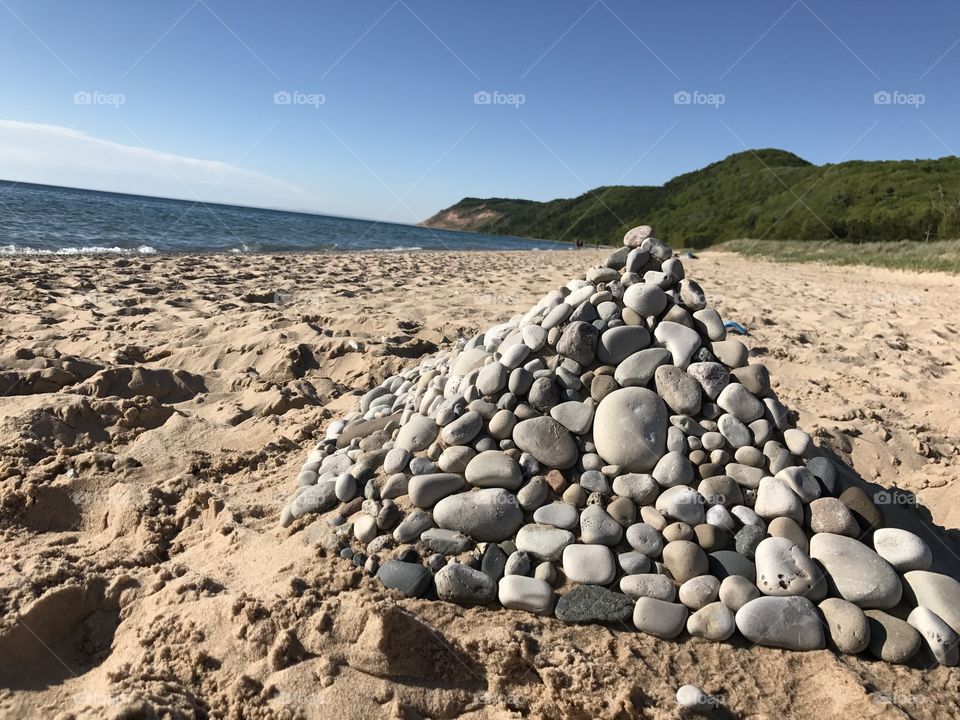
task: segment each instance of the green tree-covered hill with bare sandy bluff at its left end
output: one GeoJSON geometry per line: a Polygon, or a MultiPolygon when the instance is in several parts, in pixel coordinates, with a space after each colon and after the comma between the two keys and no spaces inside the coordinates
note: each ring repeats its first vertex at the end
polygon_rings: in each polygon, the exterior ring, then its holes
{"type": "Polygon", "coordinates": [[[641,223],[691,247],[960,238],[960,158],[813,165],[783,150],[748,150],[661,186],[598,187],[549,202],[464,198],[423,225],[619,244],[641,223]]]}

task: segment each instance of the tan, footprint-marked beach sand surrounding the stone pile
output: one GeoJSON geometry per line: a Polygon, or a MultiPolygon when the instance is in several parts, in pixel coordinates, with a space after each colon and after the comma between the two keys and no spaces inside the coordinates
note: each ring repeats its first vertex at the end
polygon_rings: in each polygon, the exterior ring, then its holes
{"type": "MultiPolygon", "coordinates": [[[[407,600],[277,522],[357,391],[603,251],[0,259],[0,716],[956,717],[960,674],[407,600]]],[[[960,280],[687,261],[800,426],[960,556],[960,280]]]]}

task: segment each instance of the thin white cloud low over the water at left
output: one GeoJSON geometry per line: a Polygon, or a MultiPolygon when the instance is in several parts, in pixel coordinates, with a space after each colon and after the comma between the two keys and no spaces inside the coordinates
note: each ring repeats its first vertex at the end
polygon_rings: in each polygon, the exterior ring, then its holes
{"type": "Polygon", "coordinates": [[[15,120],[0,120],[0,178],[207,202],[314,205],[302,188],[230,163],[15,120]]]}

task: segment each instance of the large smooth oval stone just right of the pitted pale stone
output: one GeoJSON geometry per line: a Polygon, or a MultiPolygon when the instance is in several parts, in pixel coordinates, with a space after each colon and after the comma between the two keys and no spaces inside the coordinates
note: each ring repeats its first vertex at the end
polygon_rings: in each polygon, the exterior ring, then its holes
{"type": "Polygon", "coordinates": [[[827,571],[830,594],[861,608],[892,608],[900,602],[900,578],[890,564],[863,543],[844,535],[810,538],[810,557],[827,571]]]}

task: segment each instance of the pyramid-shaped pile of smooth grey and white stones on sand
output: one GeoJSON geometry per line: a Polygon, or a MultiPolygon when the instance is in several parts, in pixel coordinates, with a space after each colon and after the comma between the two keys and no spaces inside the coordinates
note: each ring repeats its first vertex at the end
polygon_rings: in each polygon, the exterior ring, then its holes
{"type": "Polygon", "coordinates": [[[328,547],[410,597],[955,665],[960,583],[794,422],[640,226],[363,395],[281,523],[322,515],[328,547]]]}

